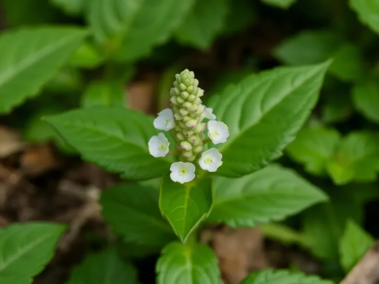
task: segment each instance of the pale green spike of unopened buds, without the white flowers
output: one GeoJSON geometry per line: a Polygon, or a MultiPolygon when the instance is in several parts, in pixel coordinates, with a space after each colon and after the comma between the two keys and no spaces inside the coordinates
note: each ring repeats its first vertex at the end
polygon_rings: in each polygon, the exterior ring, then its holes
{"type": "Polygon", "coordinates": [[[181,160],[193,162],[203,151],[206,124],[202,122],[202,114],[205,106],[201,105],[200,98],[204,91],[198,87],[199,81],[192,71],[186,69],[175,78],[174,87],[170,90],[175,137],[179,142],[181,160]]]}

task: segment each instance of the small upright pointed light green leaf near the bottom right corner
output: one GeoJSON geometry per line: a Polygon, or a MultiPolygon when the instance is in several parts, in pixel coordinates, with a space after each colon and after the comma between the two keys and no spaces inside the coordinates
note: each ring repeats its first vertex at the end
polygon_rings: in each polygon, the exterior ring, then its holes
{"type": "Polygon", "coordinates": [[[352,220],[348,220],[339,243],[341,265],[346,273],[374,245],[374,239],[352,220]]]}

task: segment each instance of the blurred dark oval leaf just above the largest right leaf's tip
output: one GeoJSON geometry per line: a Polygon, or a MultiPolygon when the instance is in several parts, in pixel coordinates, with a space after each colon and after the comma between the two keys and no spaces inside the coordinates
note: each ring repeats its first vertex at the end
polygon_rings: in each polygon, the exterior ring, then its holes
{"type": "Polygon", "coordinates": [[[287,38],[274,49],[274,56],[288,65],[317,64],[341,47],[341,36],[332,31],[304,31],[287,38]]]}

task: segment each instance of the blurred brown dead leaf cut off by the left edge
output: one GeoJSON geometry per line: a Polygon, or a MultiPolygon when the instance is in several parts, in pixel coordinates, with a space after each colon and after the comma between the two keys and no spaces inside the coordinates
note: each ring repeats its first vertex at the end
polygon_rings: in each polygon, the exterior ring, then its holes
{"type": "Polygon", "coordinates": [[[26,145],[26,142],[21,141],[20,134],[17,131],[0,126],[0,158],[17,153],[26,145]]]}

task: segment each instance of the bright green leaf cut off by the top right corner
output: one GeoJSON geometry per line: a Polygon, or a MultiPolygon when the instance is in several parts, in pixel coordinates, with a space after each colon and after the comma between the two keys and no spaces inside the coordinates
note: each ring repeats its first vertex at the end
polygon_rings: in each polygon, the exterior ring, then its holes
{"type": "Polygon", "coordinates": [[[376,0],[350,0],[350,7],[359,20],[379,34],[379,2],[376,0]]]}

